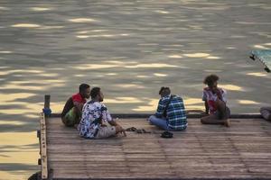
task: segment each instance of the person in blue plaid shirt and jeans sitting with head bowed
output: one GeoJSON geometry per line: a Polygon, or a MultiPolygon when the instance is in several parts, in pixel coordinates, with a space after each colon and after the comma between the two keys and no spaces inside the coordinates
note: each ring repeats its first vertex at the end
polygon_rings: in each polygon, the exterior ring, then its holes
{"type": "Polygon", "coordinates": [[[163,130],[185,130],[187,127],[186,112],[182,97],[171,94],[169,87],[161,87],[161,99],[157,111],[148,118],[151,124],[163,130]]]}

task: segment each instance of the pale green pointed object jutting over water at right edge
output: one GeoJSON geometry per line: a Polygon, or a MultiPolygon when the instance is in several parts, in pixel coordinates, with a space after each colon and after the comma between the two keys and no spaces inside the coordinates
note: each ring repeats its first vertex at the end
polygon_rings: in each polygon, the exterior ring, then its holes
{"type": "Polygon", "coordinates": [[[252,50],[250,58],[259,60],[265,65],[266,72],[270,73],[271,69],[271,49],[266,50],[252,50]]]}

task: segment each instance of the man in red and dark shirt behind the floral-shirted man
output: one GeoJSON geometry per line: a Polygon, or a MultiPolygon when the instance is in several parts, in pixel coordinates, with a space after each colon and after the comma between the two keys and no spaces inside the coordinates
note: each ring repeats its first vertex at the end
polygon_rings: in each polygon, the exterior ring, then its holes
{"type": "Polygon", "coordinates": [[[65,103],[61,113],[62,122],[68,127],[79,124],[84,103],[90,96],[90,86],[87,84],[79,85],[79,93],[73,94],[65,103]]]}

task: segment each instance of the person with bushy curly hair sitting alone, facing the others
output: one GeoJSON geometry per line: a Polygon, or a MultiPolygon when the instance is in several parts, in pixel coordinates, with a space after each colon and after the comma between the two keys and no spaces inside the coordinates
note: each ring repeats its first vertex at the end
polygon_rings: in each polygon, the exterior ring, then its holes
{"type": "Polygon", "coordinates": [[[203,89],[202,101],[205,103],[205,116],[201,117],[203,124],[224,124],[229,127],[229,107],[226,105],[226,91],[218,87],[219,76],[206,76],[203,83],[208,85],[203,89]]]}

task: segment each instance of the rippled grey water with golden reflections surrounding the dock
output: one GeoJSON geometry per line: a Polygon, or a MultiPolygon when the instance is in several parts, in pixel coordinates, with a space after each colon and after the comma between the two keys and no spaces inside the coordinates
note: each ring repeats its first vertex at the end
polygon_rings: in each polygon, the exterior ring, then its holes
{"type": "Polygon", "coordinates": [[[203,109],[202,79],[220,76],[232,112],[271,104],[270,78],[248,58],[271,49],[269,0],[0,1],[0,179],[38,170],[38,112],[81,82],[110,112],[153,112],[160,86],[203,109]]]}

